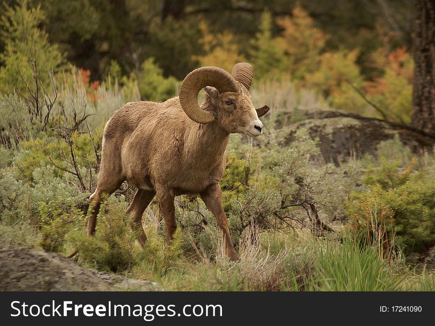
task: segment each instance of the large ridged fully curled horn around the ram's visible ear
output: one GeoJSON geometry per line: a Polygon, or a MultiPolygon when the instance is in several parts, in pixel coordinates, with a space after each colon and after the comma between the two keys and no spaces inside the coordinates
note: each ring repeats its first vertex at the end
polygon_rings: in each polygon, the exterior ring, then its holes
{"type": "Polygon", "coordinates": [[[238,85],[225,70],[217,67],[195,69],[184,78],[178,97],[186,115],[198,123],[211,123],[216,120],[212,112],[202,110],[198,105],[198,93],[206,86],[212,86],[218,92],[237,92],[238,85]]]}

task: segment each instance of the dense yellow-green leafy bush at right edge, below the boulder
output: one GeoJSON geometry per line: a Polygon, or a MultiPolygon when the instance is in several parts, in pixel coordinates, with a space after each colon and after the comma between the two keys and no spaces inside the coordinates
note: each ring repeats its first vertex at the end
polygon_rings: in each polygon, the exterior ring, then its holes
{"type": "Polygon", "coordinates": [[[357,214],[365,227],[366,219],[374,216],[374,224],[385,224],[388,237],[394,234],[395,243],[405,253],[423,252],[435,244],[434,174],[419,166],[416,157],[404,167],[385,157],[380,163],[380,168],[369,169],[362,180],[369,192],[352,195],[350,214],[357,214]]]}

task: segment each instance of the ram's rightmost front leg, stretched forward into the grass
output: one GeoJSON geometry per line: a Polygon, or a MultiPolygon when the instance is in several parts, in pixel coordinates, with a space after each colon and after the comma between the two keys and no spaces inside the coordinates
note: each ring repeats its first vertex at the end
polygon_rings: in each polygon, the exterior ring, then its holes
{"type": "Polygon", "coordinates": [[[216,218],[217,225],[222,232],[222,241],[225,247],[225,254],[231,260],[238,260],[236,250],[234,249],[231,236],[229,234],[228,222],[225,212],[222,208],[220,186],[214,184],[209,186],[205,191],[201,192],[201,198],[204,200],[207,208],[213,213],[216,218]]]}

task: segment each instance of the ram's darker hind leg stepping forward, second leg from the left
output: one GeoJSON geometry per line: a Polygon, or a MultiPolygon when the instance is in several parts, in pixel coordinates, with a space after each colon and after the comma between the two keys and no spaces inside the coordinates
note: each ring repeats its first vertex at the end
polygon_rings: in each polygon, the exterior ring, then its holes
{"type": "Polygon", "coordinates": [[[154,190],[137,189],[129,208],[126,210],[126,214],[131,214],[131,231],[137,234],[137,242],[139,242],[142,249],[146,241],[146,234],[142,226],[142,215],[155,195],[154,190]]]}

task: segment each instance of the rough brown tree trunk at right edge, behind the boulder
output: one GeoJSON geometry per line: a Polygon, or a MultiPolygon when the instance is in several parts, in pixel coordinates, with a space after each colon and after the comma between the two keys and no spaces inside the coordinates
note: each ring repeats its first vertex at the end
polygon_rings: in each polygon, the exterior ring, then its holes
{"type": "Polygon", "coordinates": [[[435,0],[415,0],[412,126],[435,132],[435,0]]]}

